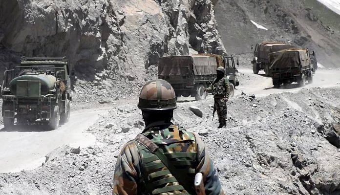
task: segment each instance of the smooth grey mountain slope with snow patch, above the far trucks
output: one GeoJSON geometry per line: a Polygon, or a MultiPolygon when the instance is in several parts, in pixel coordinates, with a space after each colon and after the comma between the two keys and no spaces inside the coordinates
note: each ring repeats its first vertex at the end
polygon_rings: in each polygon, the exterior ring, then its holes
{"type": "Polygon", "coordinates": [[[326,67],[340,66],[340,15],[317,0],[219,0],[215,17],[228,54],[249,54],[252,44],[284,40],[315,50],[326,67]]]}

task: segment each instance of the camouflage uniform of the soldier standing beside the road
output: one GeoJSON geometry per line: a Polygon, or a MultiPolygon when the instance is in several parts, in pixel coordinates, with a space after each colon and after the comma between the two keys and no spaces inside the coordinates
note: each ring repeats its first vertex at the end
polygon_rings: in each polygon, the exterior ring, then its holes
{"type": "Polygon", "coordinates": [[[216,108],[218,115],[218,122],[223,123],[227,119],[227,105],[222,99],[230,96],[229,80],[226,76],[222,79],[215,81],[207,88],[208,91],[212,91],[214,98],[214,107],[216,108]]]}

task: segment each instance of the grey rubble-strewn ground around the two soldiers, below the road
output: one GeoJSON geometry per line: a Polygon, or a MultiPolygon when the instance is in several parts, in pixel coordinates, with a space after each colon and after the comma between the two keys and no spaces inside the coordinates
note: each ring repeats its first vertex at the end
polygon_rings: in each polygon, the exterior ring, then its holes
{"type": "MultiPolygon", "coordinates": [[[[227,195],[339,195],[339,95],[339,87],[262,98],[243,94],[228,102],[226,129],[212,121],[211,96],[179,100],[174,123],[203,138],[227,195]],[[332,133],[338,143],[330,143],[332,133]]],[[[106,106],[109,113],[86,130],[95,144],[60,147],[35,170],[0,174],[0,194],[111,194],[120,148],[144,129],[136,101],[106,106]]]]}

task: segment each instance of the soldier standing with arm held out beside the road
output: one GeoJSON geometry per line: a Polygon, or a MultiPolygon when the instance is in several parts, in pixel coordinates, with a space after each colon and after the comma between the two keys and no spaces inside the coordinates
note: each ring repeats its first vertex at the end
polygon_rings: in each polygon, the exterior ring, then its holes
{"type": "Polygon", "coordinates": [[[217,67],[216,74],[217,78],[213,81],[210,87],[205,88],[205,91],[212,91],[214,99],[214,109],[217,111],[219,126],[222,128],[226,126],[227,120],[227,105],[226,102],[230,95],[229,80],[224,75],[225,69],[222,66],[217,67]]]}

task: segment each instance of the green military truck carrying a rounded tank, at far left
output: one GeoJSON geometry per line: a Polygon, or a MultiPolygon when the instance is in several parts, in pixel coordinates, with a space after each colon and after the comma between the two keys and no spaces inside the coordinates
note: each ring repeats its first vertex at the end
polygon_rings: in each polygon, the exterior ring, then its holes
{"type": "Polygon", "coordinates": [[[17,124],[48,124],[52,130],[70,117],[70,77],[65,57],[21,58],[4,72],[1,88],[5,128],[17,124]]]}

